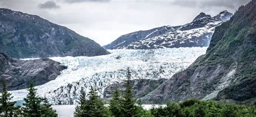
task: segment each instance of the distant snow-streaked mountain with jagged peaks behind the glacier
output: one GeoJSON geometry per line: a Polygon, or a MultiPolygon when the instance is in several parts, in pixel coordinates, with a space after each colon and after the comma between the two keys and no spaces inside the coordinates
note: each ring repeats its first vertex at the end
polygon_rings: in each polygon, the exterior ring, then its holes
{"type": "Polygon", "coordinates": [[[211,17],[201,12],[191,23],[183,26],[163,26],[120,36],[105,49],[157,49],[207,47],[216,26],[229,20],[232,13],[222,11],[211,17]]]}

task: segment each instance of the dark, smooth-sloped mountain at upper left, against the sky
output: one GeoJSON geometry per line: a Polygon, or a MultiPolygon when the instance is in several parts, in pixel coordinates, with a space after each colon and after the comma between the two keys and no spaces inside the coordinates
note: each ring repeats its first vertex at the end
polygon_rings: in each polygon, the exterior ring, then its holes
{"type": "Polygon", "coordinates": [[[66,27],[9,9],[0,9],[0,52],[15,58],[109,54],[66,27]]]}

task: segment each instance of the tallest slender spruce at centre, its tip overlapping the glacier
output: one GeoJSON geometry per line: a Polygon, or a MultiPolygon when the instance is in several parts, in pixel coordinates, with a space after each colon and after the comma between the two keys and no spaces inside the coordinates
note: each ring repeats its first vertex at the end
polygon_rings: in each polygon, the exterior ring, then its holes
{"type": "Polygon", "coordinates": [[[132,87],[130,85],[130,79],[131,79],[131,71],[129,68],[127,68],[127,80],[125,83],[125,94],[124,99],[122,100],[122,106],[121,106],[121,112],[122,116],[134,116],[136,115],[137,108],[135,105],[135,101],[132,99],[132,87]]]}

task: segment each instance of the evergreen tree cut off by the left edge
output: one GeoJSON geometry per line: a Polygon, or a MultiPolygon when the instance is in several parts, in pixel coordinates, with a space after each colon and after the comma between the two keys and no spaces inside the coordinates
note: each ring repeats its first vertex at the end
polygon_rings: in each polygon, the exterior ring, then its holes
{"type": "Polygon", "coordinates": [[[11,97],[11,93],[6,91],[6,82],[3,79],[3,91],[0,97],[0,116],[13,116],[14,112],[19,109],[14,107],[16,101],[11,101],[13,97],[11,97]]]}

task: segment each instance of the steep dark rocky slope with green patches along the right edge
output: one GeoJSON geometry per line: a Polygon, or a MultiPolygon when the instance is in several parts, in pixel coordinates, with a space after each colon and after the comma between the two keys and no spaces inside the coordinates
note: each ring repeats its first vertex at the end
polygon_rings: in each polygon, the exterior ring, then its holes
{"type": "Polygon", "coordinates": [[[188,98],[244,101],[256,97],[256,1],[218,26],[205,55],[142,98],[165,103],[188,98]]]}

